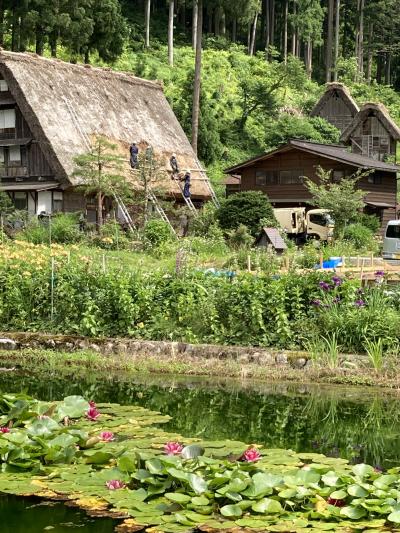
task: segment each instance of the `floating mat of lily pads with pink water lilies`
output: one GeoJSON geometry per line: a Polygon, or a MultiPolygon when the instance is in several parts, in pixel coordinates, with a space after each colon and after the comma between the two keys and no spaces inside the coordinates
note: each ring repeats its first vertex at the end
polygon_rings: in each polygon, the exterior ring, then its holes
{"type": "Polygon", "coordinates": [[[193,442],[155,426],[168,418],[81,396],[42,402],[2,394],[0,490],[66,497],[97,515],[126,513],[134,519],[127,526],[174,533],[201,524],[343,531],[400,523],[399,468],[383,473],[318,453],[193,442]]]}

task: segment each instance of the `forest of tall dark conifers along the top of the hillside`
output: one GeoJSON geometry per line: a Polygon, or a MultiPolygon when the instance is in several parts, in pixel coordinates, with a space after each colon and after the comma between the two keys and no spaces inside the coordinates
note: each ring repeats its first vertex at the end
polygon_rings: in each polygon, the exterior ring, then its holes
{"type": "Polygon", "coordinates": [[[173,64],[174,32],[195,45],[199,11],[204,36],[221,46],[284,62],[291,54],[319,82],[352,59],[356,77],[400,86],[398,0],[0,0],[0,45],[52,56],[62,45],[72,61],[112,62],[130,42],[168,39],[173,64]]]}

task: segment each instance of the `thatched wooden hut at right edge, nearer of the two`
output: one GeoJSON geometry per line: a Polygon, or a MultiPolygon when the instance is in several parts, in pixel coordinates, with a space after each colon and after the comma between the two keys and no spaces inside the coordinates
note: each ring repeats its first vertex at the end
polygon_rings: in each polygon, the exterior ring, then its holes
{"type": "Polygon", "coordinates": [[[367,103],[343,131],[340,140],[350,144],[357,154],[384,161],[388,156],[396,156],[400,129],[383,104],[367,103]]]}

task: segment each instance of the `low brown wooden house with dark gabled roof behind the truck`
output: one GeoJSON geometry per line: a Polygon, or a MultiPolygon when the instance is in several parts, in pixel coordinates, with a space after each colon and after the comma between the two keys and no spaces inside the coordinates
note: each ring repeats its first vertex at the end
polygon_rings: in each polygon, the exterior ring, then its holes
{"type": "Polygon", "coordinates": [[[400,167],[351,153],[342,145],[290,140],[276,150],[244,161],[225,172],[241,176],[241,191],[264,192],[276,207],[309,207],[311,195],[304,176],[318,181],[317,168],[341,180],[358,170],[370,171],[359,181],[365,190],[365,210],[380,217],[382,227],[396,218],[397,172],[400,167]]]}

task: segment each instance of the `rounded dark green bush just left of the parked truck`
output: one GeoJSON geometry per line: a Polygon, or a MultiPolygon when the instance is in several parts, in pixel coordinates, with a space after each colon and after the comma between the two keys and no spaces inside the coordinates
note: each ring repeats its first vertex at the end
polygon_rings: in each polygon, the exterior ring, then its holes
{"type": "Polygon", "coordinates": [[[260,232],[262,219],[270,220],[273,226],[278,224],[267,196],[260,191],[240,192],[229,196],[216,214],[222,229],[235,230],[243,224],[253,237],[260,232]]]}

